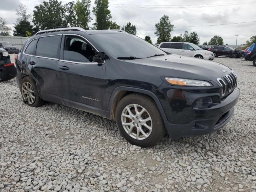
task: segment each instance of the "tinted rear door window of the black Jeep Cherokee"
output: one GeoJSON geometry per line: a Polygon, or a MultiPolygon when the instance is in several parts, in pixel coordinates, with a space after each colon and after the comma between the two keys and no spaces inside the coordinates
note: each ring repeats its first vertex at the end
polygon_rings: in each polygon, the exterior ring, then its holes
{"type": "Polygon", "coordinates": [[[36,46],[36,56],[56,58],[60,56],[61,35],[41,37],[36,46]]]}

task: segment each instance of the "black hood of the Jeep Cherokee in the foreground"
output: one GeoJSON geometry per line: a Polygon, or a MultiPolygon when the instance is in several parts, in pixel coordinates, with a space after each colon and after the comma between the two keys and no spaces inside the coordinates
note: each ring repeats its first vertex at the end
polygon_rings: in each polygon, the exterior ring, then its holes
{"type": "Polygon", "coordinates": [[[232,71],[227,66],[214,61],[176,54],[127,60],[127,62],[153,67],[152,72],[157,76],[213,80],[214,82],[232,71]]]}

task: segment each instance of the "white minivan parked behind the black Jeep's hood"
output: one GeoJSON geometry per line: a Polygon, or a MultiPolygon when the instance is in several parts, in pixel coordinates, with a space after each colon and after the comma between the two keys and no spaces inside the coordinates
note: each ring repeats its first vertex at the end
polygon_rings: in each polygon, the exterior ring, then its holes
{"type": "Polygon", "coordinates": [[[214,55],[208,50],[203,50],[193,43],[162,42],[158,46],[160,49],[171,54],[196,57],[200,59],[213,60],[214,55]]]}

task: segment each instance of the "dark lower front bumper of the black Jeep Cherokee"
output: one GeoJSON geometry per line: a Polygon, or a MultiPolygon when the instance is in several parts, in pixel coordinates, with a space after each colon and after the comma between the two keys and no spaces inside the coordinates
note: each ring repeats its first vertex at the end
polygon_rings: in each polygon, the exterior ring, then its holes
{"type": "MultiPolygon", "coordinates": [[[[238,102],[240,90],[235,88],[222,101],[210,108],[206,109],[191,109],[182,112],[182,116],[172,117],[175,120],[174,123],[170,122],[170,118],[165,123],[166,130],[170,138],[178,139],[184,136],[198,136],[215,132],[222,128],[231,119],[234,113],[234,106],[238,102]],[[188,122],[189,119],[189,122],[188,122]],[[182,122],[188,122],[182,124],[182,122]]],[[[172,113],[176,116],[177,113],[172,113]]]]}

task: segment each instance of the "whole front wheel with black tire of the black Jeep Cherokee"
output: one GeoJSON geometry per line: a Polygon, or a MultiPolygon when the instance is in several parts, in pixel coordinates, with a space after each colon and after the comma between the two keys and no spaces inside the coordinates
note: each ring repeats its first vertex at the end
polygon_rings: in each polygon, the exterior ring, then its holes
{"type": "Polygon", "coordinates": [[[162,116],[158,110],[158,107],[156,106],[155,102],[148,96],[137,93],[125,96],[122,98],[122,100],[120,100],[116,107],[115,117],[116,124],[120,133],[128,142],[133,145],[149,147],[159,142],[166,134],[166,129],[164,127],[162,116]],[[139,117],[138,119],[135,115],[135,106],[137,108],[137,117],[139,117]],[[132,115],[130,115],[130,112],[127,110],[127,108],[130,109],[132,115]],[[145,111],[140,116],[138,113],[141,112],[142,109],[145,111]],[[134,116],[134,120],[132,119],[132,116],[134,116]],[[144,119],[150,120],[143,123],[144,119]],[[123,123],[130,124],[132,126],[132,130],[130,125],[123,126],[123,123]],[[146,124],[147,127],[152,128],[151,131],[143,124],[146,124]],[[129,134],[130,130],[131,133],[129,134]],[[138,130],[140,130],[139,134],[138,130]],[[141,130],[143,130],[144,134],[142,134],[141,130]],[[139,137],[137,135],[139,135],[139,137]]]}

